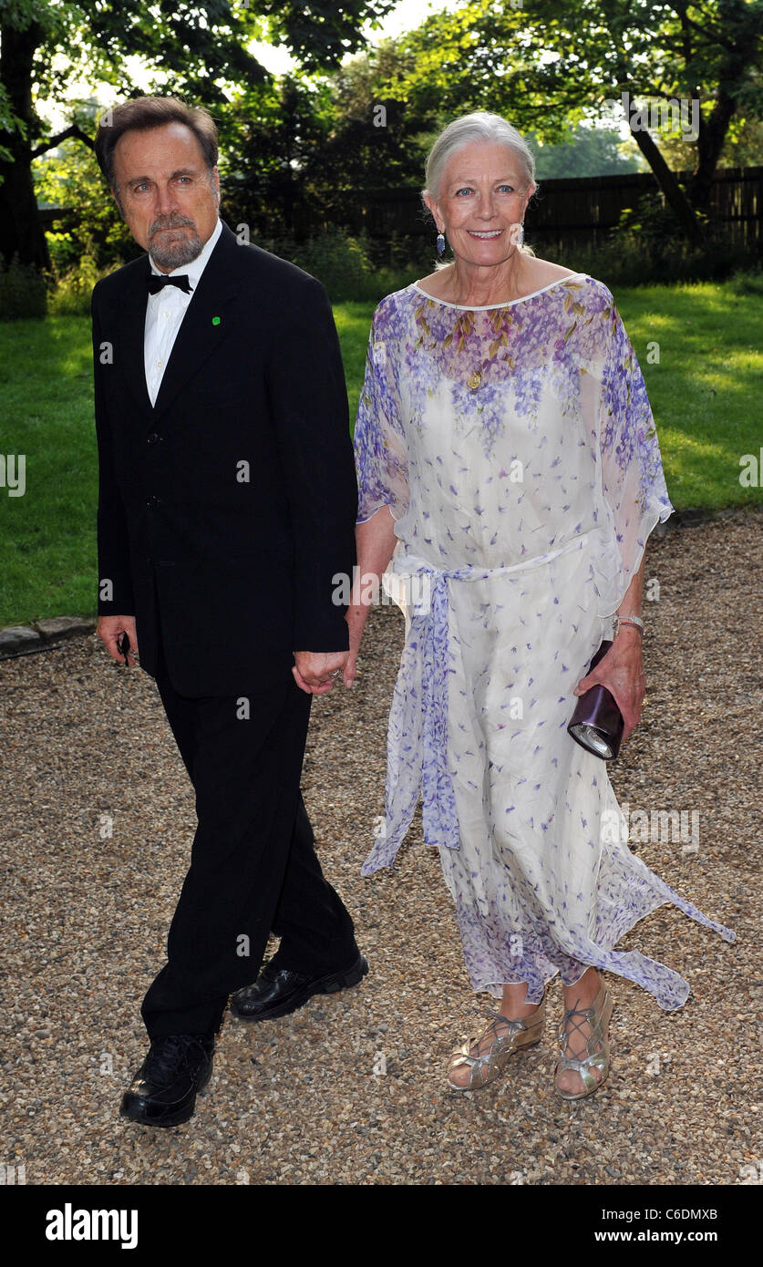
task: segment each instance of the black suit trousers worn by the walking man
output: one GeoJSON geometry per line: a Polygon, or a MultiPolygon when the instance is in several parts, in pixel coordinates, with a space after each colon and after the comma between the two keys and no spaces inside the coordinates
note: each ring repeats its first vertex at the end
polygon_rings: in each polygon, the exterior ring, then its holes
{"type": "Polygon", "coordinates": [[[279,968],[317,976],[357,954],[299,786],[312,696],[290,672],[248,697],[248,717],[246,697],[180,696],[161,640],[156,683],[196,793],[198,829],[167,963],[141,1010],[151,1038],[217,1030],[228,995],[256,979],[271,931],[281,938],[279,968]]]}

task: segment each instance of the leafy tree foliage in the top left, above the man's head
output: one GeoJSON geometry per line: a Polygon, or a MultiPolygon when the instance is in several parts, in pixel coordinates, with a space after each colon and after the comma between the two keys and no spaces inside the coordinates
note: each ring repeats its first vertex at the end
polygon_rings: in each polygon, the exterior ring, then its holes
{"type": "Polygon", "coordinates": [[[133,60],[148,91],[177,92],[224,122],[231,98],[270,81],[247,44],[272,32],[308,70],[335,65],[364,43],[362,24],[394,0],[4,0],[0,6],[0,251],[47,267],[32,161],[66,137],[90,142],[76,123],[53,136],[38,103],[67,108],[72,80],[136,96],[133,60]]]}

